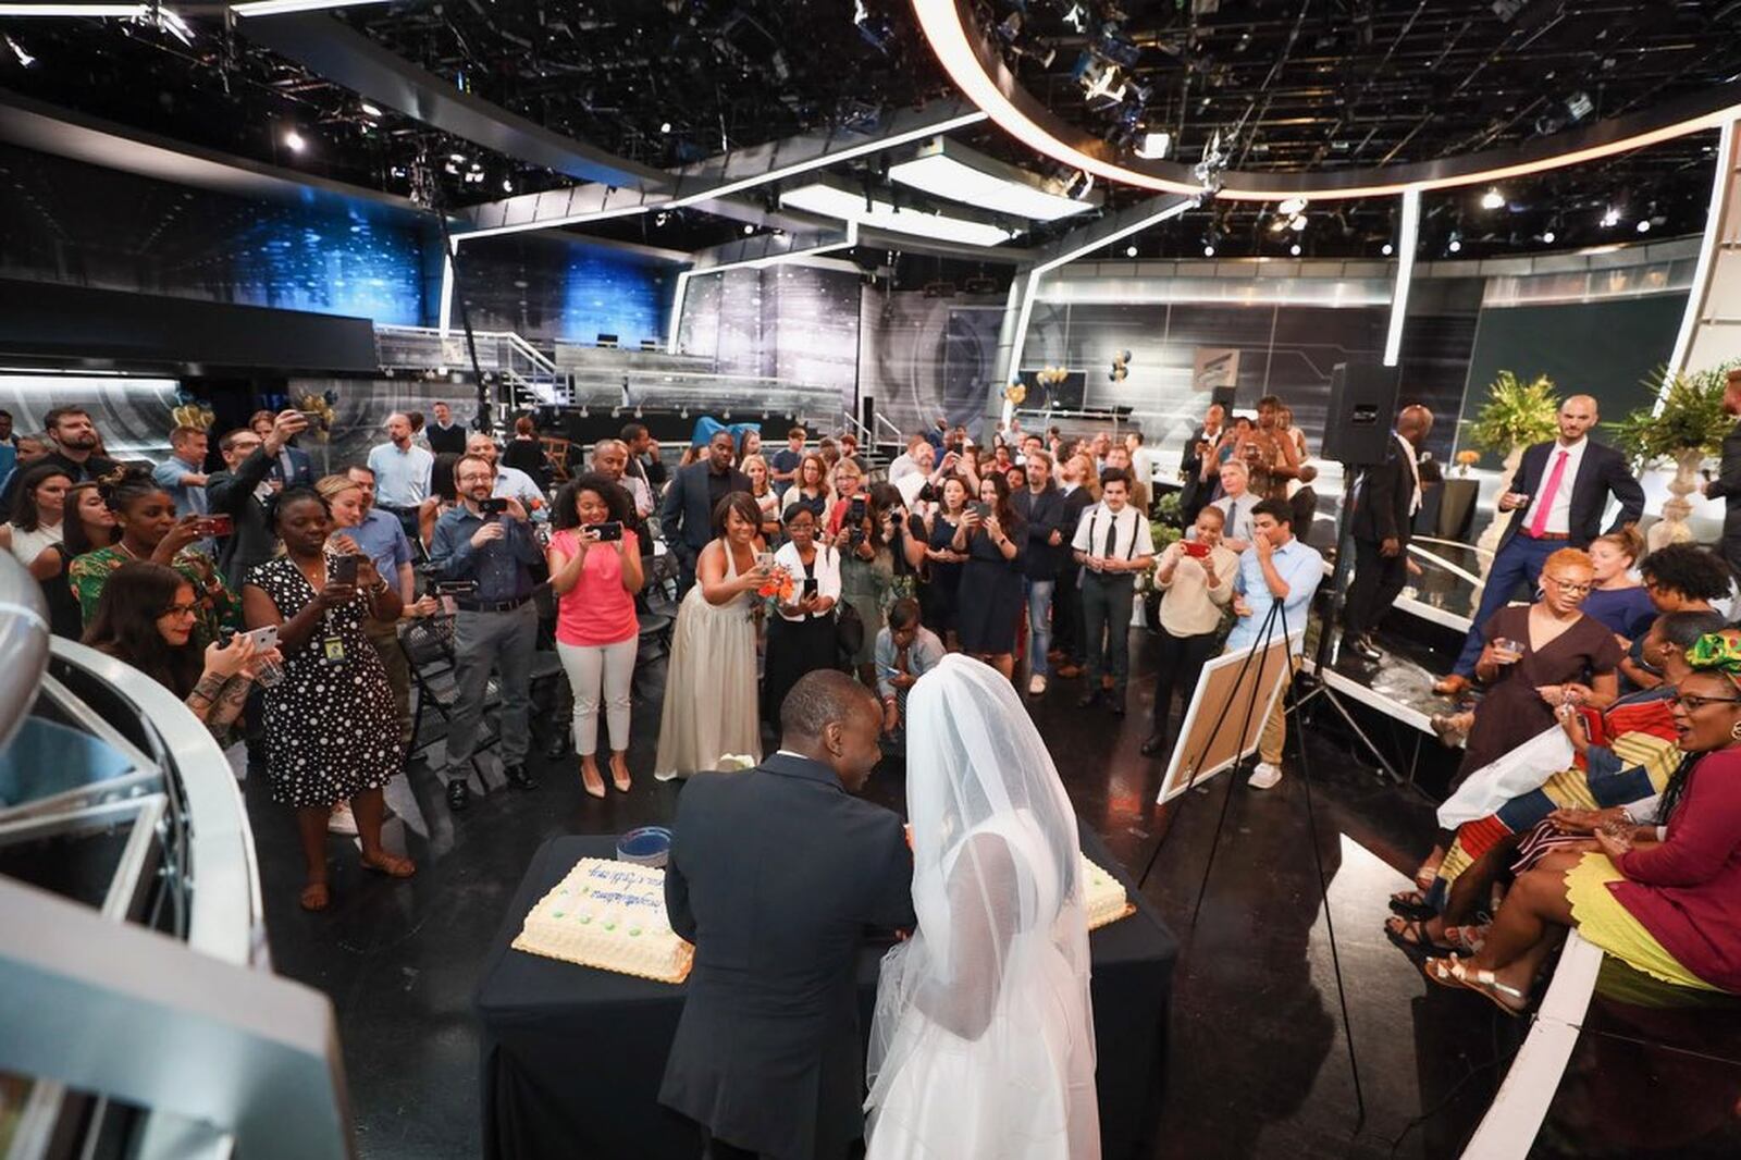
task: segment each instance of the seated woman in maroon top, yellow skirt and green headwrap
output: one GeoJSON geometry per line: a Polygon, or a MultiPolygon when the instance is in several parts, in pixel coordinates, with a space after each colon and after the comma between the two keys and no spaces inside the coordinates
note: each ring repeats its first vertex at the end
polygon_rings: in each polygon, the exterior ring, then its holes
{"type": "Polygon", "coordinates": [[[1664,826],[1596,831],[1522,874],[1468,961],[1429,958],[1428,979],[1522,1014],[1569,927],[1664,982],[1741,995],[1741,641],[1699,637],[1675,686],[1689,754],[1663,791],[1664,826]]]}

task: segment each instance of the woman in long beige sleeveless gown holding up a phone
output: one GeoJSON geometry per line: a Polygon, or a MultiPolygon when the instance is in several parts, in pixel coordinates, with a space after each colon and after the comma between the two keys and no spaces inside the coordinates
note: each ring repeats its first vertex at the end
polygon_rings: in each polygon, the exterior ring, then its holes
{"type": "Polygon", "coordinates": [[[761,761],[756,712],[756,589],[768,578],[761,509],[733,491],[714,509],[714,542],[695,563],[665,667],[665,709],[653,777],[669,782],[719,768],[726,754],[761,761]]]}

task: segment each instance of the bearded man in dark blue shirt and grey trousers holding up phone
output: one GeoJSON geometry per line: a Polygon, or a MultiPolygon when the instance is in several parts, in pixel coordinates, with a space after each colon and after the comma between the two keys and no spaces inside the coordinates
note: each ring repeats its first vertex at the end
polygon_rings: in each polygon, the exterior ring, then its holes
{"type": "Polygon", "coordinates": [[[472,801],[467,766],[484,718],[491,669],[501,674],[503,773],[519,789],[538,787],[526,772],[526,751],[531,747],[528,718],[538,644],[531,566],[543,559],[543,550],[519,500],[491,500],[494,463],[479,455],[461,456],[453,465],[453,479],[460,503],[435,521],[430,564],[442,580],[477,585],[458,597],[453,629],[458,697],[447,726],[447,808],[463,810],[472,801]],[[484,503],[501,503],[505,510],[486,516],[484,503]]]}

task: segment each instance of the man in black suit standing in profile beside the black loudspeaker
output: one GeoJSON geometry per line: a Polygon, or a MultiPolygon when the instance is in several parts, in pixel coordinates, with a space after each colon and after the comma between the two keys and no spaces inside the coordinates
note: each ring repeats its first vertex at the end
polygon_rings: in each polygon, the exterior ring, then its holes
{"type": "Polygon", "coordinates": [[[1431,411],[1403,408],[1384,462],[1365,470],[1354,493],[1349,519],[1354,582],[1348,589],[1342,646],[1374,664],[1384,660],[1384,653],[1372,643],[1372,625],[1396,603],[1408,578],[1408,533],[1421,510],[1421,442],[1431,430],[1431,411]]]}

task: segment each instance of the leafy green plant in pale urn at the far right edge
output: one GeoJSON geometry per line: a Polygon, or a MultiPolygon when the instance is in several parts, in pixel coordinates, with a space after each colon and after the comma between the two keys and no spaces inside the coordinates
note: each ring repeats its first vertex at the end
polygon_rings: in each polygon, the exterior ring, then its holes
{"type": "Polygon", "coordinates": [[[1659,366],[1644,380],[1645,390],[1657,402],[1638,408],[1619,423],[1619,448],[1640,470],[1675,462],[1675,479],[1668,484],[1673,498],[1663,505],[1663,521],[1650,529],[1652,550],[1692,538],[1687,528],[1692,503],[1687,496],[1699,489],[1699,465],[1722,451],[1724,435],[1736,423],[1724,409],[1724,390],[1734,366],[1741,366],[1741,361],[1689,373],[1659,366]]]}

